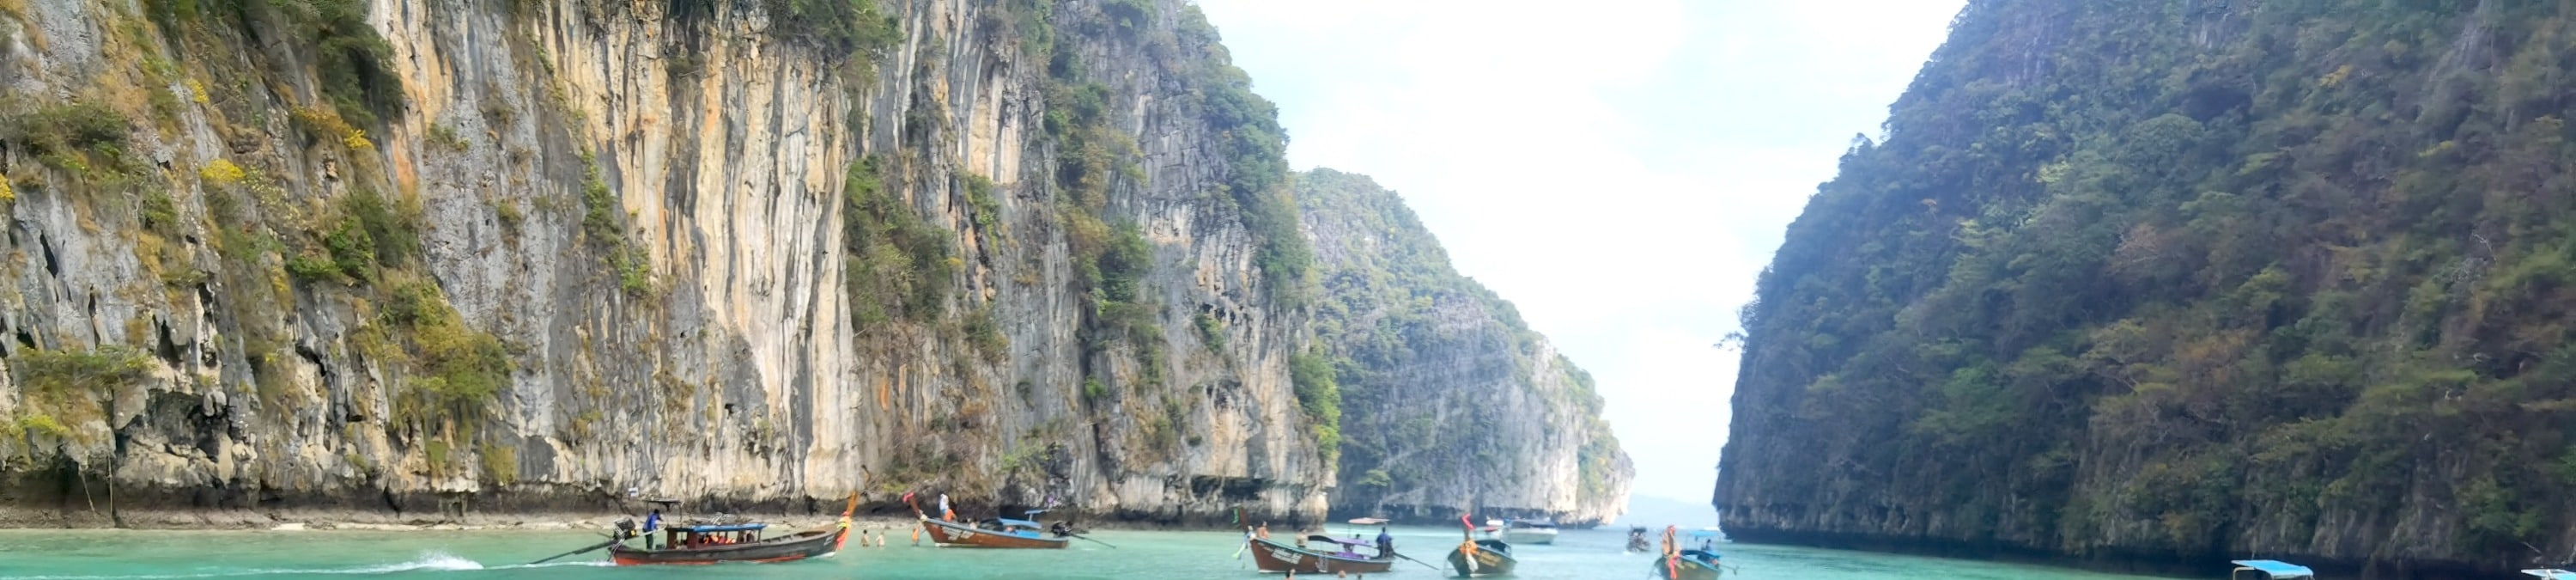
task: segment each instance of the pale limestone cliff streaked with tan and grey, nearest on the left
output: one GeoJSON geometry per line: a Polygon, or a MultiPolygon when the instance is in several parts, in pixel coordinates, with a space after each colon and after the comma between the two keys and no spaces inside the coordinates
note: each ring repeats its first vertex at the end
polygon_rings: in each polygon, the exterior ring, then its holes
{"type": "Polygon", "coordinates": [[[5,523],[1334,485],[1177,0],[10,0],[0,88],[5,523]]]}

